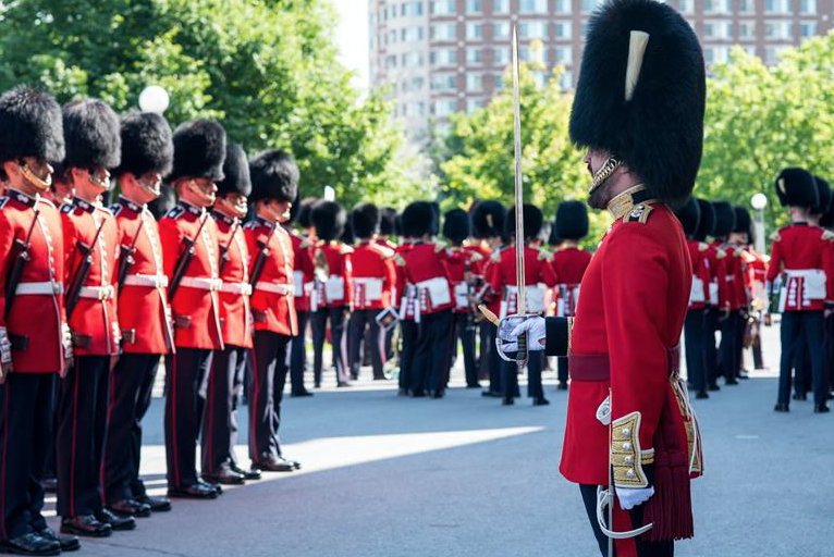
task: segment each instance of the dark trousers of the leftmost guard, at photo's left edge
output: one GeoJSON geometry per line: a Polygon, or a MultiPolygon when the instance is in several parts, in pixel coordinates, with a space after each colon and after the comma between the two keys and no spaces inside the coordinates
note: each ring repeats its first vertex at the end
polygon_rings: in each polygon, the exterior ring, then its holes
{"type": "Polygon", "coordinates": [[[41,471],[52,440],[57,373],[10,373],[0,385],[0,540],[42,530],[41,471]]]}

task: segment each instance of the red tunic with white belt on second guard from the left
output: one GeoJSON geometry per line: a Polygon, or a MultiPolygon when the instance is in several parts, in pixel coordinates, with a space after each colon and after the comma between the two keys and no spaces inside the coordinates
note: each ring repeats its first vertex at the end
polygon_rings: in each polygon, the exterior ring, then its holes
{"type": "Polygon", "coordinates": [[[113,214],[96,205],[75,198],[61,206],[64,240],[64,284],[70,287],[81,265],[81,244],[93,249],[93,263],[82,285],[72,313],[68,315],[76,356],[119,354],[121,333],[116,317],[115,270],[119,259],[119,226],[113,214]],[[101,227],[96,239],[96,232],[101,227]],[[95,245],[93,244],[95,242],[95,245]]]}

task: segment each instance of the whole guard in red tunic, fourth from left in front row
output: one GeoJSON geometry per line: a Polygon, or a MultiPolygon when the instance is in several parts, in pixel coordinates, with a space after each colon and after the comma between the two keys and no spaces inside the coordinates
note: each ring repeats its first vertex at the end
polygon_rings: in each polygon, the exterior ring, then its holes
{"type": "Polygon", "coordinates": [[[213,499],[220,486],[197,476],[197,436],[203,420],[200,386],[211,355],[223,349],[218,290],[220,250],[208,213],[223,178],[225,132],[211,120],[181,124],[173,134],[174,164],[169,183],[176,207],[159,221],[176,352],[165,359],[165,458],[168,495],[213,499]]]}

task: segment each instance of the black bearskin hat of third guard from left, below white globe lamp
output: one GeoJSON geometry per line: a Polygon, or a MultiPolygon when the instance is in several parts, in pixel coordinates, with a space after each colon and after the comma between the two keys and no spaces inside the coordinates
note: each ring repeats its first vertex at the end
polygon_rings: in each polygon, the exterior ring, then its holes
{"type": "Polygon", "coordinates": [[[171,126],[161,114],[134,112],[122,116],[122,163],[114,175],[130,172],[142,176],[157,172],[161,176],[171,172],[174,162],[174,143],[171,126]]]}

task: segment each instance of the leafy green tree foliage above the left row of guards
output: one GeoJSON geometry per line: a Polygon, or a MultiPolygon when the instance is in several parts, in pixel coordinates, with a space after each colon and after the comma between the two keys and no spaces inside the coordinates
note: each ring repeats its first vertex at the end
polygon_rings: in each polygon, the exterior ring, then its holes
{"type": "Polygon", "coordinates": [[[314,0],[16,0],[0,8],[0,90],[39,84],[124,112],[161,85],[173,125],[217,117],[249,152],[291,150],[304,195],[390,197],[414,180],[402,134],[383,91],[351,88],[334,22],[314,0]]]}

